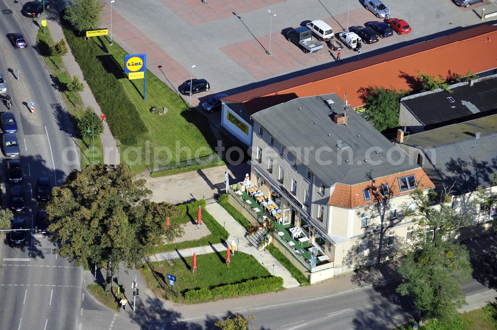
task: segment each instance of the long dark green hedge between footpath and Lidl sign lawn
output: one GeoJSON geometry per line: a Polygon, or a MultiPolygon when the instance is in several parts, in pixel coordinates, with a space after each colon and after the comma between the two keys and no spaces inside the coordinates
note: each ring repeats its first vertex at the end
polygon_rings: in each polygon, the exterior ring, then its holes
{"type": "Polygon", "coordinates": [[[69,28],[67,22],[63,25],[66,40],[91,92],[102,112],[107,115],[112,134],[125,145],[136,143],[137,137],[147,132],[147,128],[124,86],[118,81],[118,78],[125,78],[121,67],[117,65],[123,59],[106,54],[96,44],[97,39],[84,40],[69,28]]]}

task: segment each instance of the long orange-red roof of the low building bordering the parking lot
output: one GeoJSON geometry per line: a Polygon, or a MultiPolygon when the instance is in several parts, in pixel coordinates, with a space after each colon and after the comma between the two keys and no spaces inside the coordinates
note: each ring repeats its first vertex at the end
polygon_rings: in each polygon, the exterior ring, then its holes
{"type": "Polygon", "coordinates": [[[245,103],[250,114],[297,97],[348,93],[352,107],[363,104],[359,89],[384,86],[410,90],[407,76],[419,71],[446,77],[497,67],[497,26],[481,25],[391,52],[353,61],[224,98],[245,103]]]}

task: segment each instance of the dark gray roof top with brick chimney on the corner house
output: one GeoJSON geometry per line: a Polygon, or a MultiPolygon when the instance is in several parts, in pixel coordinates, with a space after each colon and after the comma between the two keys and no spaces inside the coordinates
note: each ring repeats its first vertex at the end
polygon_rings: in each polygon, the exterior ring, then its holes
{"type": "Polygon", "coordinates": [[[419,167],[350,107],[347,126],[335,124],[333,116],[343,107],[336,94],[303,97],[259,111],[252,119],[327,186],[354,185],[419,167]]]}

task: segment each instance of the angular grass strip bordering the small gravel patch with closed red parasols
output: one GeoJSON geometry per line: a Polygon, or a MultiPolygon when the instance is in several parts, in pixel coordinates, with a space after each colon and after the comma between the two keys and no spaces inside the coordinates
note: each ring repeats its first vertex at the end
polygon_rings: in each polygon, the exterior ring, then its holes
{"type": "Polygon", "coordinates": [[[197,246],[207,246],[209,244],[218,244],[225,242],[228,239],[229,233],[224,229],[224,227],[221,224],[219,224],[219,222],[216,221],[216,219],[212,217],[212,215],[209,214],[209,212],[205,210],[205,200],[199,200],[188,204],[179,205],[178,207],[181,209],[181,214],[183,215],[179,218],[171,219],[171,222],[174,223],[176,222],[188,223],[191,221],[196,222],[199,205],[202,207],[202,226],[205,225],[207,226],[207,228],[209,228],[209,231],[211,232],[210,235],[194,241],[184,241],[173,244],[164,244],[155,247],[150,251],[147,251],[147,253],[156,254],[161,252],[173,251],[174,249],[181,250],[187,248],[194,248],[197,246]]]}

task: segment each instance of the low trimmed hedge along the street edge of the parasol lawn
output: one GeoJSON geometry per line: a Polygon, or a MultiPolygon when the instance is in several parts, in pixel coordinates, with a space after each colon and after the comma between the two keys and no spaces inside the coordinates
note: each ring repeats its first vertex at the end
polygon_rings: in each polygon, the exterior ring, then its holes
{"type": "Polygon", "coordinates": [[[282,289],[283,278],[270,276],[249,279],[241,283],[220,285],[212,289],[188,290],[184,293],[184,298],[190,304],[197,304],[218,299],[280,291],[282,289]]]}

